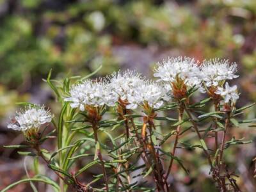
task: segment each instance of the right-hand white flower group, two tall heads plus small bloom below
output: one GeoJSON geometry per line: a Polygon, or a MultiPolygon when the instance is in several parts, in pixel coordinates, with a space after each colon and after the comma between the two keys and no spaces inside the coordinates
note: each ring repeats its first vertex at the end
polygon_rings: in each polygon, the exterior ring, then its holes
{"type": "Polygon", "coordinates": [[[192,58],[168,58],[157,64],[154,76],[159,77],[158,81],[166,83],[175,83],[177,79],[182,79],[186,86],[195,86],[200,92],[205,92],[213,86],[217,90],[215,93],[224,97],[225,102],[236,102],[239,98],[237,87],[230,87],[228,84],[225,89],[222,87],[226,80],[239,77],[235,74],[236,63],[230,64],[228,60],[216,58],[203,61],[200,67],[198,65],[199,63],[192,58]]]}

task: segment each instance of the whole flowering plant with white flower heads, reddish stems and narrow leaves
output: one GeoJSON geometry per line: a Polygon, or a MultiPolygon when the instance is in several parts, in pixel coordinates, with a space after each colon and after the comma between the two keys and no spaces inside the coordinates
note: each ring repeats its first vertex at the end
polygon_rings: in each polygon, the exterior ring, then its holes
{"type": "Polygon", "coordinates": [[[88,79],[93,74],[68,77],[62,82],[52,81],[50,72],[45,81],[61,106],[59,115],[24,103],[26,108],[8,128],[22,131],[26,145],[6,147],[40,157],[40,164],[58,179],[36,174],[2,191],[21,182],[29,182],[34,191],[34,182],[51,185],[54,191],[174,191],[173,164],[189,175],[189,161],[181,159],[177,150],[196,148],[204,154],[219,191],[240,191],[236,170],[228,170],[225,163],[225,149],[250,143],[227,136],[230,129],[252,122],[237,120],[252,104],[236,108],[237,86],[227,82],[238,77],[236,72],[236,63],[227,60],[198,63],[181,57],[158,63],[156,82],[130,70],[93,80],[88,79]],[[205,99],[194,102],[194,95],[205,99]],[[187,142],[182,140],[185,136],[187,142]],[[55,152],[44,148],[50,139],[56,143],[55,152]],[[206,140],[214,141],[214,146],[208,147],[206,140]]]}

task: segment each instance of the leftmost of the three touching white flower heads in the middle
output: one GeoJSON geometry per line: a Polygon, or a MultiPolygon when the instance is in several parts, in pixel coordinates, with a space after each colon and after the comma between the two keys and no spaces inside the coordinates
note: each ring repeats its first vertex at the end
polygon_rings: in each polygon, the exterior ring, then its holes
{"type": "Polygon", "coordinates": [[[70,97],[66,97],[64,100],[70,102],[72,108],[79,108],[80,111],[84,111],[85,105],[114,106],[117,100],[117,95],[111,92],[105,79],[100,79],[99,82],[86,80],[74,84],[69,93],[70,97]]]}

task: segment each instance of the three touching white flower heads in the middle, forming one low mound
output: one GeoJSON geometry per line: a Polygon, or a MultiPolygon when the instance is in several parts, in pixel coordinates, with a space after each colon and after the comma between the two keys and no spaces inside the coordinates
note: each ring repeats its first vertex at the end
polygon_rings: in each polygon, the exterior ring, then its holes
{"type": "Polygon", "coordinates": [[[127,109],[136,109],[145,102],[151,108],[159,108],[163,100],[170,100],[170,90],[163,85],[147,81],[137,72],[115,72],[107,79],[76,84],[70,90],[70,97],[64,100],[70,102],[72,108],[79,108],[81,111],[84,111],[86,105],[114,106],[119,100],[127,103],[127,109]]]}

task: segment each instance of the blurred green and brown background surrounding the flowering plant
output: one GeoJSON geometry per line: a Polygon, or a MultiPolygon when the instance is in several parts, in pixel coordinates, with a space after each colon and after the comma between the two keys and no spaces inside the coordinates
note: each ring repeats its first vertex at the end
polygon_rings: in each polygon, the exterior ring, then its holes
{"type": "MultiPolygon", "coordinates": [[[[256,101],[255,0],[0,0],[0,189],[25,175],[23,157],[3,145],[23,138],[6,128],[15,102],[54,101],[42,81],[52,76],[84,76],[103,65],[97,76],[132,68],[152,77],[167,56],[228,58],[239,67],[238,106],[256,101]]],[[[246,118],[255,118],[255,108],[246,118]]],[[[253,140],[230,152],[243,191],[256,191],[253,157],[255,127],[233,132],[253,140]]],[[[51,147],[50,147],[51,148],[51,147]]],[[[188,157],[192,158],[191,154],[188,157]]],[[[180,190],[214,191],[204,167],[180,177],[180,190]]],[[[21,184],[13,191],[29,191],[21,184]]]]}

